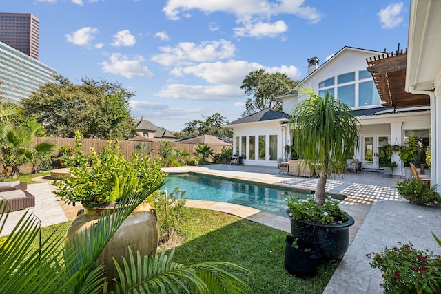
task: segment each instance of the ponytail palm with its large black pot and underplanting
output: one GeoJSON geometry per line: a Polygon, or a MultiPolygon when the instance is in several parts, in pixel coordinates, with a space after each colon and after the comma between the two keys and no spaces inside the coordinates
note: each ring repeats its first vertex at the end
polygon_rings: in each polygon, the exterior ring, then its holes
{"type": "Polygon", "coordinates": [[[341,219],[333,218],[333,223],[322,224],[316,220],[302,220],[304,216],[298,215],[297,210],[289,209],[291,228],[293,220],[302,223],[305,230],[314,226],[321,228],[307,234],[313,239],[309,241],[314,242],[314,238],[320,237],[320,250],[329,258],[341,258],[349,246],[349,227],[353,224],[353,218],[341,211],[338,204],[325,205],[325,187],[329,176],[345,173],[347,158],[353,149],[358,148],[359,121],[349,106],[334,99],[329,92],[322,98],[314,90],[303,88],[301,91],[307,97],[298,103],[291,115],[293,141],[305,165],[315,166],[320,176],[314,199],[297,202],[299,211],[305,211],[313,202],[315,209],[322,211],[322,216],[337,213],[341,219]]]}

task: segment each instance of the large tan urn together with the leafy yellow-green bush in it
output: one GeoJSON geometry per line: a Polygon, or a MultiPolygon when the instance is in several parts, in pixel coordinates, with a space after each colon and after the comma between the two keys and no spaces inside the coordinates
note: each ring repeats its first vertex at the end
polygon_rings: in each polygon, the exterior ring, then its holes
{"type": "MultiPolygon", "coordinates": [[[[107,211],[114,211],[121,199],[154,187],[158,189],[164,182],[165,173],[156,162],[148,157],[138,158],[136,154],[133,154],[130,161],[126,160],[117,140],[114,143],[109,141],[99,153],[92,148],[89,157],[83,154],[81,134],[77,133],[74,154],[71,162],[75,164],[69,166],[72,176],[61,178],[57,182],[58,189],[54,191],[67,204],[75,205],[79,202],[84,207],[70,224],[67,244],[81,235],[89,235],[88,232],[100,216],[107,211]]],[[[154,255],[156,252],[156,211],[147,202],[139,204],[134,213],[127,217],[99,257],[98,263],[105,264],[105,271],[110,277],[118,276],[112,257],[119,262],[122,262],[122,256],[128,258],[129,244],[141,256],[154,255]]]]}

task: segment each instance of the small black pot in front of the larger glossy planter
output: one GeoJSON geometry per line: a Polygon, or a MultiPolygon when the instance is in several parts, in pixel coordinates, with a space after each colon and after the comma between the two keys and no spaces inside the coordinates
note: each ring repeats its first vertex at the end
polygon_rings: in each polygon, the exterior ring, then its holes
{"type": "Polygon", "coordinates": [[[295,239],[290,235],[285,238],[285,269],[296,277],[314,277],[320,263],[320,249],[317,244],[300,239],[297,240],[298,248],[295,248],[292,246],[295,239]]]}

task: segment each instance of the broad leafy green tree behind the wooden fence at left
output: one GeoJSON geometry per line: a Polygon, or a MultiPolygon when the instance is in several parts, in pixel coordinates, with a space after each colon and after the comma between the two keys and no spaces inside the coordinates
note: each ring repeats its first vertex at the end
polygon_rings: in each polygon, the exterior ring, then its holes
{"type": "Polygon", "coordinates": [[[48,135],[74,138],[79,131],[84,138],[136,136],[128,105],[134,94],[121,84],[82,78],[74,85],[63,76],[54,78],[56,83],[42,85],[21,101],[23,114],[43,123],[48,135]]]}

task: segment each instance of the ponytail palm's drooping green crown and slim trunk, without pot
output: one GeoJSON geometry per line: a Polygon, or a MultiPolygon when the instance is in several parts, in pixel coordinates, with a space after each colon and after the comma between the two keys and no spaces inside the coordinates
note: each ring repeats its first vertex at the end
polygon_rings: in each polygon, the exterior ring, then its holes
{"type": "Polygon", "coordinates": [[[299,158],[320,171],[314,202],[325,201],[327,177],[343,174],[347,158],[358,148],[359,123],[353,110],[329,92],[322,98],[312,89],[292,112],[291,127],[299,158]]]}

